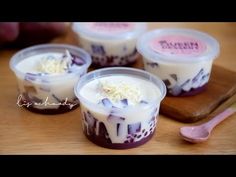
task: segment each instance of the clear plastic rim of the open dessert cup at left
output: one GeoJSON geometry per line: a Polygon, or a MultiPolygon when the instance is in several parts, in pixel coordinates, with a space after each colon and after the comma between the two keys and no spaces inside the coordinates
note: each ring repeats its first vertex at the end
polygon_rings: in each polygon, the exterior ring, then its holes
{"type": "MultiPolygon", "coordinates": [[[[81,57],[84,61],[85,61],[85,64],[83,64],[80,68],[78,68],[76,71],[74,72],[71,72],[71,73],[63,73],[63,74],[57,74],[57,75],[40,75],[40,76],[35,76],[35,77],[39,77],[39,78],[49,78],[49,79],[53,79],[52,81],[56,81],[56,80],[59,80],[61,78],[65,78],[65,77],[72,77],[76,74],[80,74],[82,73],[83,71],[87,70],[89,68],[89,66],[91,65],[92,63],[92,59],[91,59],[91,56],[83,49],[77,47],[77,46],[74,46],[74,45],[69,45],[69,44],[38,44],[38,45],[33,45],[33,46],[30,46],[30,47],[27,47],[27,48],[24,48],[18,52],[16,52],[10,59],[10,69],[16,74],[16,75],[25,75],[27,72],[22,72],[20,70],[18,70],[16,68],[16,65],[19,63],[18,60],[19,58],[21,57],[21,55],[23,55],[24,53],[28,53],[28,52],[32,52],[32,51],[36,51],[38,49],[47,49],[47,48],[52,48],[52,50],[55,48],[55,49],[68,49],[68,50],[73,50],[75,52],[78,53],[78,57],[81,57]],[[17,64],[15,64],[17,63],[17,64]]],[[[50,49],[48,49],[50,51],[50,49]]],[[[35,53],[35,55],[37,55],[39,53],[35,53]]],[[[33,54],[32,54],[33,56],[33,54]]],[[[27,58],[27,57],[25,57],[27,58]]],[[[23,59],[24,60],[24,59],[23,59]]]]}

